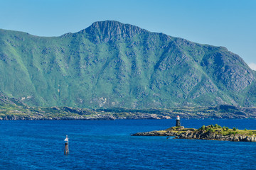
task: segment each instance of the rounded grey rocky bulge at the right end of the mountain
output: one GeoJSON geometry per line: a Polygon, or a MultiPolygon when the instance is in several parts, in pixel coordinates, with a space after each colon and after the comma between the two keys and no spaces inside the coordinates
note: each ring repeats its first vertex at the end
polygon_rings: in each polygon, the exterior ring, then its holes
{"type": "Polygon", "coordinates": [[[220,50],[203,57],[201,65],[215,81],[231,91],[242,91],[255,80],[255,74],[247,68],[247,64],[228,50],[220,50]]]}

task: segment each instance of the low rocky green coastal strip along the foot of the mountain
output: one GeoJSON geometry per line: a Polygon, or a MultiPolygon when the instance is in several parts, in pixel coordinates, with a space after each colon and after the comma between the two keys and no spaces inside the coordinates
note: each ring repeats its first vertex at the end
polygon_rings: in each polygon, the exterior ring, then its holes
{"type": "Polygon", "coordinates": [[[116,119],[246,119],[256,118],[256,108],[221,105],[182,108],[71,108],[30,107],[24,103],[0,105],[0,120],[116,120],[116,119]]]}

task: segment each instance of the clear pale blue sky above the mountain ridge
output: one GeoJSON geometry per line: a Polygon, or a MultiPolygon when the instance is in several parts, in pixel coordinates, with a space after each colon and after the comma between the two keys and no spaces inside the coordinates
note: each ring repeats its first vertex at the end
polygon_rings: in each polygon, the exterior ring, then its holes
{"type": "Polygon", "coordinates": [[[256,69],[256,0],[0,0],[0,28],[59,36],[114,20],[224,46],[256,69]]]}

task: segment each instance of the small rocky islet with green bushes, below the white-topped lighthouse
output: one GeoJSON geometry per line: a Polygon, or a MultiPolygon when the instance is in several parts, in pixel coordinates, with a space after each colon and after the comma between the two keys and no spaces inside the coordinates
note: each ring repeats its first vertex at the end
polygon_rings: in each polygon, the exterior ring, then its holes
{"type": "Polygon", "coordinates": [[[199,129],[171,127],[166,130],[138,132],[132,136],[174,136],[175,139],[221,140],[233,142],[256,142],[256,130],[238,130],[238,128],[221,127],[220,125],[203,125],[199,129]]]}

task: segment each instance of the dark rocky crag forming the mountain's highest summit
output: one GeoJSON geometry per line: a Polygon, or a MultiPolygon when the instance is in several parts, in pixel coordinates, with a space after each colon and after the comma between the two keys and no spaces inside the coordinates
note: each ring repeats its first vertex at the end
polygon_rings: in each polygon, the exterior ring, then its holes
{"type": "Polygon", "coordinates": [[[87,33],[90,37],[92,36],[92,42],[95,43],[133,38],[135,35],[143,32],[146,32],[146,30],[118,21],[97,21],[92,23],[92,26],[82,30],[82,33],[87,33]]]}

